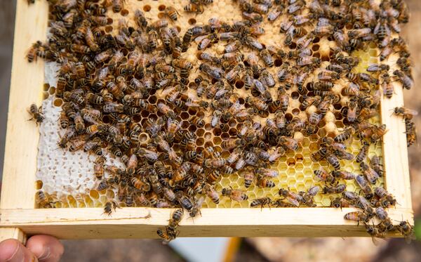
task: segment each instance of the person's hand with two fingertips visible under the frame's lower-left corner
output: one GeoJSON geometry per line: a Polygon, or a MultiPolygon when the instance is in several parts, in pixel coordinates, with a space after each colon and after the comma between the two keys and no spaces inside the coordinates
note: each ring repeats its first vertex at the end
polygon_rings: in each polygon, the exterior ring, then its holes
{"type": "Polygon", "coordinates": [[[0,262],[57,262],[65,251],[55,237],[34,235],[27,241],[26,247],[18,240],[0,242],[0,262]]]}

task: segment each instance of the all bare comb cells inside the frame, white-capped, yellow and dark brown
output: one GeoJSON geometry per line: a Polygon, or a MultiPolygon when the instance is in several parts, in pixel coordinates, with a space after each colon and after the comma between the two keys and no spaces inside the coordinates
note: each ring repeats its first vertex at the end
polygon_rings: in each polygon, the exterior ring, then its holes
{"type": "MultiPolygon", "coordinates": [[[[175,26],[182,37],[191,27],[207,25],[208,20],[210,18],[214,18],[215,13],[218,13],[220,19],[225,22],[243,20],[241,9],[238,4],[236,4],[236,1],[216,2],[217,1],[215,1],[214,4],[206,6],[203,13],[199,15],[182,12],[186,1],[178,0],[171,2],[171,4],[181,14],[177,21],[171,22],[171,26],[175,26]]],[[[103,26],[102,33],[118,32],[119,27],[121,27],[121,25],[119,25],[121,19],[127,21],[128,30],[135,28],[135,21],[131,17],[137,9],[143,11],[145,18],[151,23],[156,22],[156,19],[158,18],[168,20],[168,14],[166,13],[168,4],[168,1],[148,1],[147,4],[145,4],[145,1],[126,1],[125,9],[123,9],[121,13],[112,13],[108,11],[107,15],[109,15],[112,19],[110,18],[107,25],[103,26]]],[[[279,21],[280,20],[283,20],[283,18],[279,18],[279,21]]],[[[267,50],[269,50],[269,46],[278,46],[278,43],[284,43],[286,41],[284,34],[279,34],[279,26],[274,26],[274,24],[266,21],[262,22],[261,25],[265,34],[262,34],[262,36],[258,37],[258,39],[265,44],[267,50]]],[[[139,39],[139,41],[140,40],[142,39],[139,39]]],[[[192,102],[189,100],[190,98],[188,95],[191,93],[196,96],[200,87],[200,84],[196,84],[194,80],[199,76],[199,74],[203,76],[203,74],[201,74],[201,70],[199,70],[199,65],[203,63],[203,57],[197,52],[198,44],[203,41],[203,39],[199,38],[194,40],[196,41],[192,41],[192,47],[182,54],[183,58],[185,58],[189,63],[192,63],[193,69],[190,74],[185,77],[185,79],[187,79],[185,85],[188,87],[188,92],[185,94],[186,96],[184,98],[180,98],[181,103],[178,107],[173,108],[175,114],[177,115],[175,119],[180,123],[180,130],[182,132],[191,132],[194,134],[196,141],[195,150],[197,153],[204,154],[206,149],[212,147],[215,152],[222,152],[222,157],[227,157],[230,155],[232,150],[226,150],[225,143],[232,138],[239,138],[241,136],[241,131],[245,126],[247,126],[247,122],[250,119],[248,117],[224,119],[224,116],[218,119],[218,124],[210,124],[210,122],[213,121],[213,113],[211,110],[215,107],[215,102],[218,101],[218,103],[220,103],[220,100],[207,98],[207,96],[212,97],[211,94],[209,94],[210,89],[206,89],[203,96],[201,96],[201,100],[208,103],[206,107],[208,112],[205,110],[198,110],[197,108],[187,109],[187,107],[182,105],[182,103],[187,103],[187,101],[192,102]]],[[[279,53],[272,55],[273,66],[265,65],[265,62],[262,59],[258,61],[258,65],[260,65],[262,69],[265,68],[265,70],[273,76],[279,76],[279,70],[281,70],[283,66],[288,65],[288,63],[295,63],[293,60],[288,58],[288,56],[297,55],[298,51],[300,51],[299,47],[301,43],[298,40],[299,38],[296,37],[290,44],[288,44],[288,47],[286,47],[287,45],[285,46],[285,55],[281,55],[281,51],[283,50],[279,50],[277,51],[279,53]]],[[[320,63],[322,68],[326,67],[331,56],[334,55],[333,53],[330,53],[330,51],[335,48],[334,43],[335,41],[330,40],[327,37],[316,37],[308,46],[308,58],[315,59],[314,61],[320,63]]],[[[226,43],[224,41],[214,41],[208,48],[206,48],[206,52],[218,55],[220,53],[224,53],[225,48],[226,43]]],[[[129,59],[129,52],[126,48],[123,48],[122,52],[124,55],[122,63],[126,63],[129,59]]],[[[250,65],[248,56],[253,53],[258,57],[260,56],[260,53],[255,52],[252,48],[245,48],[241,51],[242,56],[239,56],[238,59],[244,65],[250,65]]],[[[359,65],[354,67],[352,72],[365,73],[368,65],[371,63],[378,63],[379,50],[375,46],[368,44],[366,50],[354,51],[352,55],[360,59],[359,65]]],[[[226,66],[227,70],[225,73],[232,69],[232,65],[226,66]]],[[[109,189],[102,191],[93,189],[97,188],[100,183],[98,179],[93,176],[93,166],[96,157],[83,151],[62,152],[62,150],[56,150],[57,144],[60,142],[60,139],[62,139],[62,136],[65,135],[65,131],[60,129],[58,126],[60,107],[63,103],[65,103],[65,100],[63,100],[63,98],[56,98],[53,96],[53,94],[57,92],[57,88],[54,86],[57,86],[55,72],[58,70],[59,68],[54,67],[53,65],[46,66],[46,81],[48,81],[48,84],[44,86],[43,93],[43,98],[45,99],[43,109],[46,119],[40,129],[41,142],[39,145],[38,169],[36,176],[43,182],[42,190],[48,192],[51,197],[59,199],[58,202],[55,202],[55,207],[103,207],[109,199],[117,198],[119,189],[113,188],[112,190],[109,189]],[[59,133],[57,130],[60,130],[59,133]]],[[[95,70],[98,71],[99,68],[95,70]]],[[[318,91],[315,90],[314,86],[309,84],[309,82],[316,81],[318,78],[317,74],[320,72],[321,69],[319,68],[314,71],[313,74],[310,74],[307,77],[307,80],[303,83],[298,83],[299,79],[291,80],[297,81],[297,83],[293,84],[293,87],[286,90],[286,95],[288,96],[288,107],[283,110],[283,113],[287,122],[293,122],[300,119],[308,121],[309,115],[316,112],[316,110],[319,110],[316,105],[303,108],[302,104],[304,96],[316,96],[318,91]]],[[[254,73],[261,74],[261,72],[253,72],[253,74],[254,73]]],[[[182,80],[180,79],[180,81],[182,80]]],[[[209,79],[209,82],[210,84],[215,84],[217,81],[215,81],[215,79],[209,79]]],[[[253,103],[249,102],[251,97],[256,97],[254,95],[260,96],[258,89],[255,89],[254,86],[249,86],[250,83],[241,77],[234,79],[231,83],[232,84],[226,85],[227,92],[233,92],[236,96],[238,96],[239,104],[244,105],[246,108],[245,112],[259,111],[255,108],[253,103]]],[[[345,85],[345,80],[341,84],[345,85]]],[[[279,82],[276,82],[276,85],[269,89],[269,93],[272,95],[272,98],[277,99],[277,89],[281,85],[285,85],[285,83],[282,82],[282,84],[280,84],[279,82]]],[[[335,85],[332,90],[335,94],[341,95],[341,90],[338,86],[339,84],[335,85]]],[[[159,103],[164,103],[167,99],[167,94],[168,91],[156,91],[156,93],[149,97],[149,105],[157,107],[159,103]]],[[[319,105],[321,102],[322,101],[319,101],[319,105]]],[[[340,100],[335,101],[335,103],[332,103],[330,107],[326,108],[328,112],[323,119],[314,124],[313,132],[306,133],[307,130],[302,130],[301,132],[294,134],[294,138],[297,138],[298,140],[298,150],[287,150],[285,155],[279,157],[279,159],[267,166],[268,168],[279,172],[278,176],[268,178],[268,180],[274,183],[274,187],[262,188],[256,185],[257,179],[255,179],[253,183],[251,183],[250,187],[246,188],[243,170],[237,172],[235,171],[236,169],[234,169],[233,173],[221,172],[222,174],[218,176],[213,185],[215,190],[217,190],[218,193],[221,193],[224,188],[242,190],[243,192],[246,192],[248,199],[246,201],[237,202],[234,199],[221,195],[219,204],[215,204],[210,198],[206,197],[203,207],[250,207],[250,203],[253,199],[258,197],[279,199],[280,188],[288,189],[293,192],[306,191],[314,185],[320,185],[321,188],[323,188],[325,186],[324,183],[321,183],[321,181],[318,181],[315,178],[314,171],[319,169],[332,171],[333,169],[326,161],[314,162],[312,155],[319,149],[319,140],[321,138],[337,136],[339,133],[344,131],[347,126],[349,126],[349,122],[346,121],[345,117],[346,111],[349,110],[349,103],[350,101],[348,98],[341,98],[340,100]]],[[[270,105],[272,106],[272,103],[270,105]]],[[[273,104],[273,106],[275,107],[276,104],[273,104]]],[[[273,112],[270,113],[269,110],[268,112],[260,112],[260,114],[256,114],[255,117],[253,117],[253,121],[258,122],[261,125],[265,125],[268,119],[274,119],[276,112],[279,112],[279,108],[274,108],[273,112]]],[[[147,110],[142,110],[139,115],[131,117],[131,119],[133,122],[138,122],[144,126],[147,124],[148,120],[156,121],[156,119],[162,116],[162,112],[148,112],[147,110]]],[[[105,119],[109,119],[109,116],[105,117],[105,119]]],[[[112,120],[104,120],[104,122],[110,121],[112,120]]],[[[380,124],[378,117],[373,118],[373,120],[371,120],[371,124],[380,124]]],[[[149,136],[148,133],[140,133],[137,138],[141,145],[145,145],[145,148],[147,148],[152,141],[152,136],[149,136]]],[[[356,136],[353,136],[353,139],[348,141],[347,152],[356,156],[359,153],[361,146],[361,140],[356,138],[356,136]]],[[[175,150],[182,150],[182,148],[180,148],[180,143],[175,143],[173,148],[175,148],[175,150]]],[[[382,156],[381,143],[373,143],[370,146],[368,150],[368,157],[373,157],[373,155],[377,155],[379,157],[382,156]]],[[[105,165],[108,164],[124,167],[121,159],[111,157],[110,153],[107,153],[106,157],[107,162],[105,162],[105,165]]],[[[226,166],[227,167],[224,167],[225,171],[227,171],[229,167],[234,168],[235,164],[226,166]]],[[[354,160],[342,159],[340,160],[340,166],[341,170],[360,173],[359,164],[354,160]]],[[[106,174],[105,178],[109,178],[109,174],[106,174]]],[[[341,183],[345,183],[347,190],[359,190],[359,186],[352,180],[345,180],[341,183]]],[[[380,178],[377,181],[376,186],[382,185],[383,179],[380,178]]],[[[327,207],[330,205],[330,197],[337,196],[338,195],[335,194],[327,195],[319,192],[319,194],[314,197],[314,202],[318,207],[327,207]]],[[[149,200],[153,200],[154,194],[151,193],[145,197],[149,200]]],[[[126,206],[123,202],[120,202],[120,205],[121,207],[126,206]]],[[[134,206],[142,206],[142,204],[140,204],[140,199],[135,200],[134,206]]]]}

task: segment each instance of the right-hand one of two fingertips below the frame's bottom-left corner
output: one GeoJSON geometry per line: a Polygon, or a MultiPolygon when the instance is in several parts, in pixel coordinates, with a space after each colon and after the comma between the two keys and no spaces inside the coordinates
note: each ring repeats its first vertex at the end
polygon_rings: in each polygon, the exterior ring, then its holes
{"type": "Polygon", "coordinates": [[[27,241],[27,248],[40,262],[58,262],[65,248],[55,237],[34,235],[27,241]]]}

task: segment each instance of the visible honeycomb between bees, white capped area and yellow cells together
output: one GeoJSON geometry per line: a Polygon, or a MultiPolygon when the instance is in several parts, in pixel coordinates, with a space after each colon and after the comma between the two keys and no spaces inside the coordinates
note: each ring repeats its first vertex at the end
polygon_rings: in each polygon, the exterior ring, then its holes
{"type": "MultiPolygon", "coordinates": [[[[192,13],[184,13],[182,11],[183,6],[185,6],[186,1],[173,1],[171,4],[175,7],[178,12],[181,14],[178,18],[178,21],[175,22],[175,25],[178,26],[180,35],[184,35],[186,30],[192,25],[204,25],[208,22],[210,18],[214,18],[218,15],[218,18],[224,20],[225,22],[232,22],[235,20],[241,20],[241,10],[238,7],[236,1],[215,1],[215,3],[206,6],[203,13],[196,15],[192,13]]],[[[145,12],[145,16],[148,20],[154,21],[158,18],[163,18],[165,14],[163,11],[168,5],[168,1],[126,1],[123,11],[121,13],[112,13],[108,11],[109,15],[113,21],[111,25],[105,27],[105,32],[116,32],[117,25],[121,18],[128,21],[128,25],[134,25],[133,21],[133,11],[135,9],[140,9],[145,12]]],[[[281,20],[282,18],[279,18],[281,20]]],[[[262,24],[262,27],[265,29],[265,34],[262,34],[258,37],[258,40],[265,44],[277,45],[283,42],[283,35],[279,34],[279,27],[273,26],[271,23],[265,22],[262,24]]],[[[331,47],[335,46],[335,42],[331,39],[323,37],[322,39],[315,39],[311,45],[312,56],[315,58],[321,58],[321,67],[325,67],[330,60],[331,47]]],[[[295,43],[293,43],[295,44],[295,43]]],[[[189,75],[189,92],[194,92],[194,89],[197,88],[194,83],[194,79],[199,74],[199,63],[197,57],[197,44],[195,41],[192,41],[192,46],[186,53],[182,54],[182,58],[189,60],[194,68],[191,70],[189,75]]],[[[225,48],[225,42],[219,42],[213,44],[210,48],[206,49],[208,53],[223,53],[225,48]]],[[[289,50],[289,49],[288,49],[289,50]]],[[[243,55],[246,58],[248,53],[253,53],[253,51],[244,52],[243,55]]],[[[359,65],[354,68],[354,72],[366,72],[368,65],[378,62],[378,53],[379,51],[375,48],[375,45],[370,45],[366,50],[355,51],[353,55],[361,58],[359,65]]],[[[262,61],[259,61],[261,66],[264,66],[262,61]]],[[[279,70],[279,67],[282,65],[281,60],[275,60],[274,67],[268,67],[267,70],[273,75],[276,75],[276,71],[279,70]]],[[[81,152],[69,152],[68,150],[61,150],[58,148],[58,142],[60,136],[63,136],[63,131],[57,133],[57,130],[60,130],[58,124],[58,117],[60,115],[60,106],[63,101],[60,98],[55,98],[55,86],[57,84],[57,79],[55,77],[57,71],[57,65],[55,63],[46,63],[46,86],[43,92],[43,110],[44,110],[44,122],[41,124],[40,133],[41,139],[39,143],[39,155],[38,155],[38,170],[36,173],[38,189],[44,190],[48,195],[53,197],[53,199],[58,199],[54,205],[55,207],[103,207],[105,202],[109,199],[113,199],[116,194],[114,190],[104,190],[98,192],[93,189],[96,188],[99,181],[93,176],[93,161],[95,157],[89,155],[88,153],[81,152]]],[[[313,75],[307,77],[304,85],[309,81],[313,81],[317,77],[318,71],[314,72],[313,75]]],[[[335,84],[333,91],[340,93],[341,84],[344,84],[344,80],[338,81],[338,84],[335,84]],[[342,81],[342,82],[341,82],[342,81]]],[[[237,88],[241,88],[243,83],[241,81],[236,81],[234,84],[237,88]]],[[[272,96],[275,96],[276,89],[270,89],[272,96]]],[[[243,89],[236,90],[236,93],[239,95],[239,101],[242,105],[245,105],[245,101],[248,93],[243,89]]],[[[306,111],[300,110],[300,101],[298,98],[300,94],[298,93],[297,87],[294,86],[292,89],[287,91],[288,96],[290,97],[290,106],[286,113],[286,119],[292,119],[293,117],[300,117],[301,119],[307,120],[307,114],[314,110],[314,106],[310,106],[306,111]]],[[[166,92],[155,93],[154,96],[149,98],[149,102],[157,105],[159,102],[165,99],[166,92]]],[[[206,99],[204,99],[206,100],[206,99]]],[[[208,100],[210,102],[210,100],[208,100]]],[[[302,133],[297,132],[294,135],[300,142],[298,150],[292,151],[288,150],[286,155],[280,157],[275,164],[272,164],[271,168],[279,171],[279,176],[272,178],[272,181],[275,183],[274,188],[259,188],[252,183],[250,188],[244,187],[244,179],[241,176],[241,173],[232,173],[229,175],[222,175],[218,181],[215,183],[215,189],[218,192],[222,192],[222,188],[232,187],[233,189],[239,189],[246,192],[248,195],[248,200],[237,202],[229,197],[220,196],[220,203],[214,204],[208,197],[203,204],[203,207],[206,208],[236,208],[236,207],[250,207],[250,202],[258,197],[271,197],[278,198],[279,188],[289,188],[294,192],[306,191],[313,185],[322,184],[314,178],[314,170],[324,169],[330,171],[332,168],[328,165],[326,161],[313,162],[311,159],[312,152],[317,150],[318,145],[317,141],[319,138],[324,136],[335,136],[338,135],[344,129],[343,117],[341,110],[343,107],[347,106],[347,97],[343,96],[342,100],[338,104],[331,105],[328,113],[323,117],[320,124],[318,125],[319,131],[311,136],[304,136],[302,133]]],[[[222,157],[227,157],[229,152],[222,150],[221,143],[228,138],[235,137],[236,133],[239,132],[243,123],[236,122],[236,120],[231,119],[229,122],[224,123],[223,128],[212,128],[210,124],[210,115],[203,114],[199,110],[187,110],[182,111],[178,108],[175,109],[175,113],[178,115],[176,119],[181,122],[182,129],[193,131],[196,133],[197,139],[197,151],[201,152],[205,148],[210,146],[215,148],[215,151],[221,152],[222,157]],[[189,123],[194,120],[195,117],[203,119],[207,124],[203,127],[198,128],[196,126],[190,125],[189,123]]],[[[139,116],[133,117],[133,121],[145,123],[147,119],[156,119],[159,117],[158,114],[150,113],[147,111],[142,111],[139,116]]],[[[266,118],[273,117],[273,114],[269,114],[266,117],[255,117],[256,122],[265,122],[266,118]]],[[[379,117],[373,117],[370,119],[373,124],[380,123],[379,117]]],[[[149,137],[145,135],[144,143],[149,141],[149,137]]],[[[352,143],[347,146],[347,152],[351,152],[353,155],[356,155],[361,149],[361,140],[354,136],[352,143]]],[[[368,157],[373,155],[382,156],[381,143],[375,143],[370,146],[368,157]]],[[[107,157],[107,164],[116,164],[123,165],[119,162],[118,159],[112,159],[112,157],[107,157]]],[[[360,173],[359,164],[354,161],[340,160],[341,169],[345,171],[350,171],[353,173],[360,173]]],[[[107,178],[107,174],[105,174],[107,178]]],[[[345,181],[347,185],[347,190],[349,191],[358,191],[359,186],[356,185],[354,180],[345,181]]],[[[377,181],[375,186],[383,186],[383,180],[380,178],[377,181]]],[[[335,197],[335,195],[325,195],[317,194],[314,197],[314,201],[317,207],[329,207],[330,206],[330,197],[335,197]]],[[[124,207],[124,203],[119,203],[121,207],[124,207]]]]}

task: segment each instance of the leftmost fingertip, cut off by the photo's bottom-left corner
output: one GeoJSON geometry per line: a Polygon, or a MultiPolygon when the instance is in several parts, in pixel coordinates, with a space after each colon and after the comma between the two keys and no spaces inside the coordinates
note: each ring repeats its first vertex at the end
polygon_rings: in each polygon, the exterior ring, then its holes
{"type": "Polygon", "coordinates": [[[0,243],[0,262],[37,261],[34,254],[18,240],[4,240],[0,243]]]}

